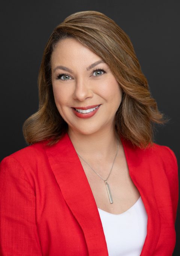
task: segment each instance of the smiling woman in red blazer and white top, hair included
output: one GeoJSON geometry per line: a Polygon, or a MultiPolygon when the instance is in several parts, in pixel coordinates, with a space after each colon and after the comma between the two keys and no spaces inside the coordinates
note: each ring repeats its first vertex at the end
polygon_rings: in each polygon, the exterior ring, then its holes
{"type": "Polygon", "coordinates": [[[1,255],[169,256],[177,160],[127,35],[104,14],[70,15],[39,71],[30,146],[1,162],[1,255]]]}

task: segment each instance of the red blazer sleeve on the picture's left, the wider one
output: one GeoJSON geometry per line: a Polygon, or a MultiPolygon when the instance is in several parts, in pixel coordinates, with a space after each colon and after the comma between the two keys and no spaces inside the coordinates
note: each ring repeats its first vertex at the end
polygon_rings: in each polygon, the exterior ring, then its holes
{"type": "Polygon", "coordinates": [[[0,164],[0,255],[42,256],[35,193],[24,169],[9,156],[0,164]]]}

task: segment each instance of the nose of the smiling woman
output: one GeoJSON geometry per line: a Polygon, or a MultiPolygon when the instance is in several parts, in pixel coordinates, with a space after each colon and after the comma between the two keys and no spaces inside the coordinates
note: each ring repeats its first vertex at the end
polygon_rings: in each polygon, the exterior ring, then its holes
{"type": "Polygon", "coordinates": [[[87,81],[85,82],[83,79],[78,79],[75,84],[73,96],[74,99],[85,101],[86,99],[93,97],[93,91],[87,81]]]}

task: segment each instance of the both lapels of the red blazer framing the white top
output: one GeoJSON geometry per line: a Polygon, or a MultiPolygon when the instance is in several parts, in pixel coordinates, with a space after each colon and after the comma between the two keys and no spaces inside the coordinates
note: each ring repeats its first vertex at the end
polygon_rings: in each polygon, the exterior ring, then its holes
{"type": "MultiPolygon", "coordinates": [[[[160,217],[154,197],[151,178],[151,161],[148,150],[133,147],[121,138],[129,175],[139,190],[147,215],[147,236],[141,256],[153,255],[160,234],[160,217]]],[[[95,198],[78,155],[68,136],[45,151],[66,203],[79,222],[86,239],[89,255],[108,256],[104,231],[95,198]]]]}

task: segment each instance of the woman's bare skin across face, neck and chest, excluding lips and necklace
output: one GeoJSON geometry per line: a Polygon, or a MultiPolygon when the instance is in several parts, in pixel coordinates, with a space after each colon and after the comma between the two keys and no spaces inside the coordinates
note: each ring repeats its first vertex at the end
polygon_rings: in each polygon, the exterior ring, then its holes
{"type": "MultiPolygon", "coordinates": [[[[114,120],[122,90],[109,66],[105,62],[97,64],[98,61],[102,61],[101,57],[74,38],[59,41],[51,55],[52,87],[55,104],[68,123],[68,134],[76,151],[107,178],[117,149],[114,120]],[[92,64],[95,67],[88,69],[92,64]],[[72,107],[99,104],[97,113],[88,119],[79,118],[72,111],[72,107]]],[[[80,161],[99,208],[119,214],[138,200],[139,192],[129,176],[120,140],[113,171],[108,178],[113,204],[109,203],[104,181],[81,158],[80,161]]]]}

